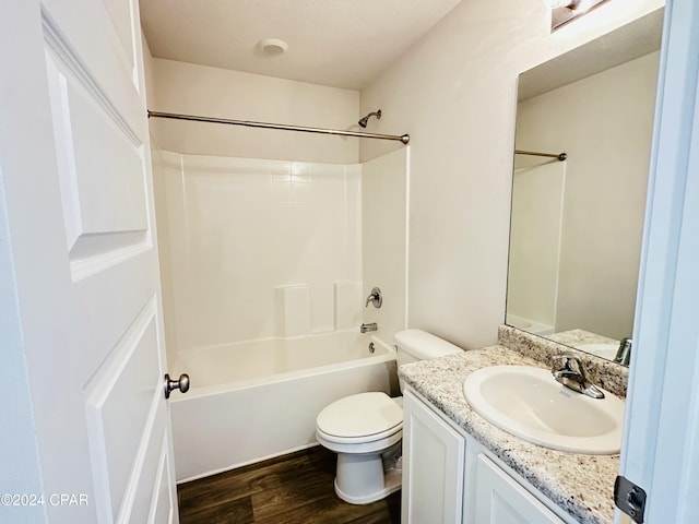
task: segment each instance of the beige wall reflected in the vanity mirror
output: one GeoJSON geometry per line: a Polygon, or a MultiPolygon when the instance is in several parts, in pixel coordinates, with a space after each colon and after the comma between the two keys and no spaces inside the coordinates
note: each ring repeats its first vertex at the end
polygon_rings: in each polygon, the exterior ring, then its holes
{"type": "Polygon", "coordinates": [[[519,104],[518,147],[568,154],[556,331],[631,335],[657,60],[519,104]]]}

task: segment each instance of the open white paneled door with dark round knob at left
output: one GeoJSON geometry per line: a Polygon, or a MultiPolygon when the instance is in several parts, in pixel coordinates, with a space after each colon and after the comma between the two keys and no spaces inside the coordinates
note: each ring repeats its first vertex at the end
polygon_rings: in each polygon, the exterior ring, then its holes
{"type": "Polygon", "coordinates": [[[45,522],[176,523],[138,1],[0,7],[2,271],[31,390],[31,495],[45,522]]]}

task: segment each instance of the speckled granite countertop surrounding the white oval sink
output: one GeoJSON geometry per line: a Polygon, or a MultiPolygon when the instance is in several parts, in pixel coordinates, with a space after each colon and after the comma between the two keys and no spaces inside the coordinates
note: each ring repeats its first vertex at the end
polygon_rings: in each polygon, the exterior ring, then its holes
{"type": "Polygon", "coordinates": [[[611,524],[618,455],[583,455],[542,448],[502,431],[471,408],[462,393],[465,378],[476,369],[500,365],[545,367],[518,350],[495,345],[407,364],[400,367],[399,374],[579,522],[611,524]]]}

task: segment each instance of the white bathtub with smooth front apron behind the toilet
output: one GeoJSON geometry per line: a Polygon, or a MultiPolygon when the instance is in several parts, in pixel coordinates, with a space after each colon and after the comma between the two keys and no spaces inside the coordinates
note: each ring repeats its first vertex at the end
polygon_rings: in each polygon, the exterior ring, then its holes
{"type": "Polygon", "coordinates": [[[316,445],[337,398],[398,394],[395,349],[355,331],[192,349],[174,369],[191,380],[170,397],[178,483],[316,445]]]}

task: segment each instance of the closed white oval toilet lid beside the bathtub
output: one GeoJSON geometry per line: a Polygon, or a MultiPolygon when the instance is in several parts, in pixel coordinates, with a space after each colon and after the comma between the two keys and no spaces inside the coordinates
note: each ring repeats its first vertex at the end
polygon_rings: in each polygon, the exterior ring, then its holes
{"type": "Polygon", "coordinates": [[[383,392],[345,396],[325,407],[316,419],[323,433],[344,437],[368,437],[403,424],[403,408],[383,392]]]}

